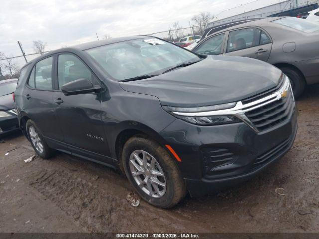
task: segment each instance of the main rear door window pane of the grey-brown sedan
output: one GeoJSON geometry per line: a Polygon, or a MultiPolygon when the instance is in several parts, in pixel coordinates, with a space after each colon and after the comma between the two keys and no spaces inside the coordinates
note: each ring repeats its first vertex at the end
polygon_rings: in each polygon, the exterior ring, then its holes
{"type": "Polygon", "coordinates": [[[229,32],[227,52],[238,51],[259,45],[261,30],[247,28],[229,32]]]}

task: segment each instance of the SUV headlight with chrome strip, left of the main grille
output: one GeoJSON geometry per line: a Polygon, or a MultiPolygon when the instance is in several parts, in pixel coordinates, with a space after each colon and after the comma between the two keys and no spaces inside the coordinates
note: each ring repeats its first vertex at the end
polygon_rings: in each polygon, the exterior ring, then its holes
{"type": "Polygon", "coordinates": [[[202,125],[202,126],[204,125],[209,126],[209,125],[239,123],[242,121],[233,115],[196,116],[196,113],[205,112],[205,111],[214,111],[214,110],[217,111],[217,110],[230,109],[234,107],[235,105],[236,105],[236,102],[222,104],[222,105],[215,105],[215,106],[204,106],[204,107],[181,108],[181,107],[163,106],[163,108],[164,110],[168,111],[170,114],[186,122],[202,125]],[[185,115],[182,115],[182,113],[188,113],[188,114],[185,114],[186,115],[185,116],[185,115]],[[190,116],[189,113],[194,113],[194,116],[190,116]]]}

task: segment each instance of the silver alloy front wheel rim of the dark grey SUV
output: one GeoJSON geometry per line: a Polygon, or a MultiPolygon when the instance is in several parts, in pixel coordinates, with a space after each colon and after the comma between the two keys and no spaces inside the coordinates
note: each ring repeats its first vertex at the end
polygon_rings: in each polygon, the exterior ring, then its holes
{"type": "Polygon", "coordinates": [[[137,185],[147,195],[161,198],[166,192],[166,178],[159,162],[148,152],[135,150],[130,155],[130,171],[137,185]]]}

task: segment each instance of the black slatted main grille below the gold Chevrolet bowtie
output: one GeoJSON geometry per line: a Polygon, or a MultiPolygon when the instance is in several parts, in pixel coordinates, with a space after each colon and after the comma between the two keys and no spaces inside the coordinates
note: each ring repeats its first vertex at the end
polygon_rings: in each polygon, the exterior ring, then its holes
{"type": "Polygon", "coordinates": [[[263,131],[288,119],[293,110],[294,100],[291,90],[289,89],[286,97],[257,109],[247,111],[245,115],[258,131],[263,131]]]}

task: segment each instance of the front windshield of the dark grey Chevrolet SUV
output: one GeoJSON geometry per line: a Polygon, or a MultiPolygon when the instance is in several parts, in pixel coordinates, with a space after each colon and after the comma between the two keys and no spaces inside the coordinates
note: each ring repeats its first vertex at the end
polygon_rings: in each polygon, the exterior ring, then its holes
{"type": "Polygon", "coordinates": [[[197,55],[157,38],[118,42],[86,52],[117,81],[161,74],[177,65],[200,60],[197,55]]]}

